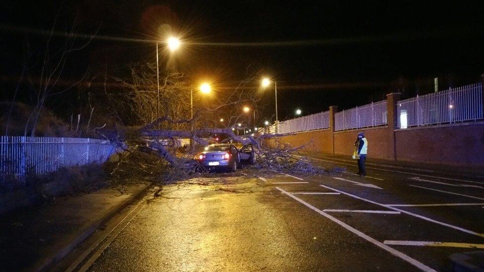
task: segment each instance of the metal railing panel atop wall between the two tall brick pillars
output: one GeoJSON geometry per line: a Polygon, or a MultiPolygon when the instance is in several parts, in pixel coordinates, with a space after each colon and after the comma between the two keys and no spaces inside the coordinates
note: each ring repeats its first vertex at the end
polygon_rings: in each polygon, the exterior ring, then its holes
{"type": "Polygon", "coordinates": [[[387,102],[379,101],[334,114],[335,130],[356,129],[387,124],[387,102]]]}

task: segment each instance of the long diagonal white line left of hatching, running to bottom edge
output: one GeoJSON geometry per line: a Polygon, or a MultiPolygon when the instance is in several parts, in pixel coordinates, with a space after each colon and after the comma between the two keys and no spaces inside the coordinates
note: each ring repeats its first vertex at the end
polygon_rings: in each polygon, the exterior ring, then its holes
{"type": "Polygon", "coordinates": [[[383,250],[388,251],[388,252],[389,252],[389,253],[391,253],[392,255],[394,255],[394,256],[396,256],[396,257],[398,257],[398,258],[400,258],[400,259],[402,259],[402,260],[404,260],[404,261],[407,261],[408,263],[410,263],[410,264],[412,264],[413,266],[415,266],[415,267],[419,268],[420,270],[422,270],[422,271],[435,271],[435,270],[433,270],[433,269],[431,269],[431,268],[429,268],[429,267],[425,266],[425,265],[424,265],[424,264],[422,264],[421,262],[419,262],[419,261],[417,261],[417,260],[415,260],[415,259],[413,259],[413,258],[411,258],[411,257],[409,257],[409,256],[407,256],[407,255],[405,255],[404,253],[402,253],[402,252],[400,252],[400,251],[398,251],[398,250],[396,250],[396,249],[393,249],[393,248],[391,248],[391,247],[389,247],[389,246],[387,246],[387,245],[383,244],[383,243],[382,243],[382,242],[380,242],[380,241],[377,241],[377,240],[375,240],[375,239],[371,238],[370,236],[368,236],[368,235],[364,234],[363,232],[359,231],[358,229],[356,229],[356,228],[354,228],[354,227],[352,227],[352,226],[348,225],[347,223],[345,223],[345,222],[343,222],[343,221],[339,220],[338,218],[335,218],[335,217],[333,217],[333,216],[331,216],[331,215],[329,215],[329,214],[327,214],[327,213],[325,213],[325,212],[323,212],[323,211],[319,210],[318,208],[316,208],[316,207],[312,206],[311,204],[309,204],[309,203],[307,203],[307,202],[303,201],[302,199],[300,199],[300,198],[298,198],[298,197],[296,197],[296,196],[291,195],[290,193],[288,193],[288,192],[284,191],[283,189],[281,189],[281,188],[279,188],[279,187],[276,187],[276,189],[278,189],[278,190],[279,190],[279,191],[281,191],[282,193],[284,193],[284,194],[288,195],[289,197],[291,197],[291,198],[295,199],[296,201],[298,201],[299,203],[303,204],[303,205],[304,205],[304,206],[306,206],[307,208],[309,208],[309,209],[311,209],[311,210],[315,211],[316,213],[318,213],[318,214],[322,215],[323,217],[325,217],[325,218],[328,218],[328,219],[332,220],[333,222],[335,222],[335,223],[339,224],[340,226],[342,226],[342,227],[346,228],[347,230],[349,230],[349,231],[353,232],[354,234],[356,234],[356,235],[360,236],[361,238],[365,239],[366,241],[368,241],[368,242],[370,242],[370,243],[372,243],[372,244],[376,245],[377,247],[379,247],[379,248],[381,248],[381,249],[383,249],[383,250]]]}

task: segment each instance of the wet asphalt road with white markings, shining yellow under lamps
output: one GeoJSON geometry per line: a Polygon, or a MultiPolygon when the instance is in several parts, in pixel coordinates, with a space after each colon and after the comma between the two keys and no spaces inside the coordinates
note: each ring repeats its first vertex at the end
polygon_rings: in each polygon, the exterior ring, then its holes
{"type": "Polygon", "coordinates": [[[161,197],[148,195],[134,207],[84,266],[442,271],[450,255],[484,250],[484,180],[372,168],[363,178],[352,172],[353,166],[324,176],[252,176],[244,170],[247,175],[160,188],[161,197]]]}

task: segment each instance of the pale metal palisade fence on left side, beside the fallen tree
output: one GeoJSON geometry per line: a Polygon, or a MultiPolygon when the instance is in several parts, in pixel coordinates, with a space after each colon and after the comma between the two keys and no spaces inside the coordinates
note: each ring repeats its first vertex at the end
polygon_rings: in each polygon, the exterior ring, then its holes
{"type": "Polygon", "coordinates": [[[23,178],[104,163],[115,149],[113,143],[100,139],[0,136],[0,174],[23,178]]]}

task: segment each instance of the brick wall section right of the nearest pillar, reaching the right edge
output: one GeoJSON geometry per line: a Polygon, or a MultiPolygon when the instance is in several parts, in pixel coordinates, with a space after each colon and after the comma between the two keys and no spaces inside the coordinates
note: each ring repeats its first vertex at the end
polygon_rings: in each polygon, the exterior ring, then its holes
{"type": "Polygon", "coordinates": [[[395,131],[401,161],[484,165],[484,124],[434,126],[395,131]]]}

